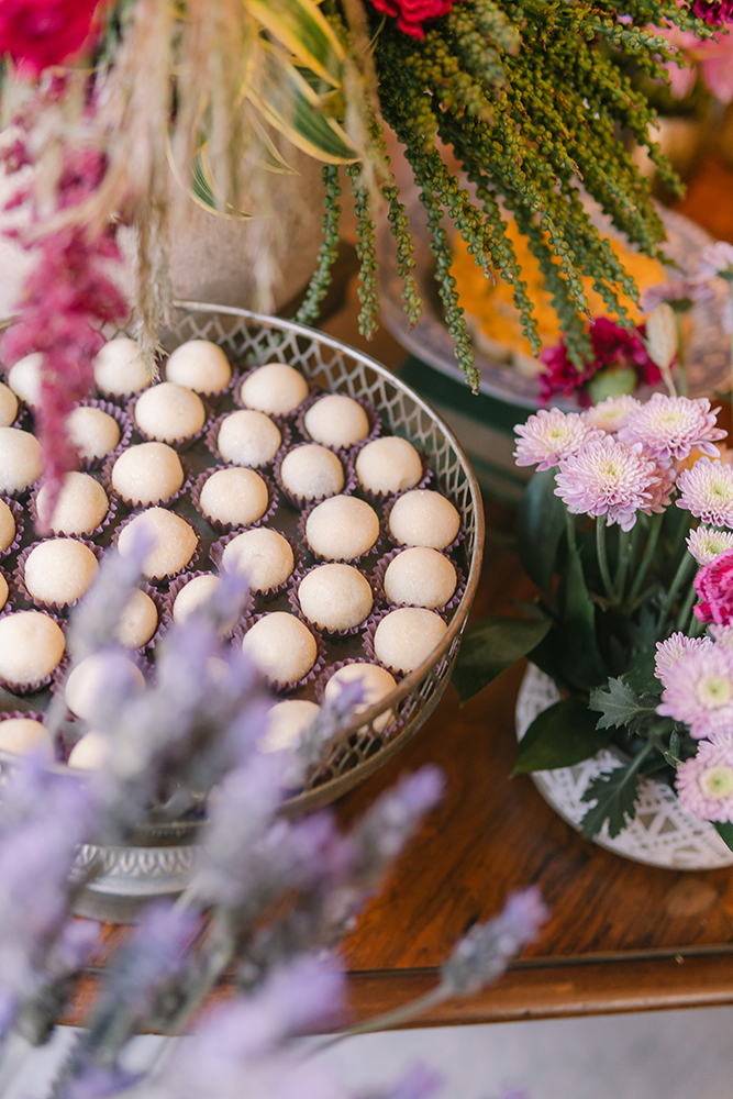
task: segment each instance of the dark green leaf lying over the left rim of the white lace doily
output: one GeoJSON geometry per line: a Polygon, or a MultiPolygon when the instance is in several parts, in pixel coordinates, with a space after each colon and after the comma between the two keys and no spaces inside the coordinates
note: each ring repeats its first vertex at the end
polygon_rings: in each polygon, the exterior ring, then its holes
{"type": "Polygon", "coordinates": [[[512,775],[573,767],[608,744],[608,733],[577,695],[570,695],[537,714],[519,742],[512,775]]]}

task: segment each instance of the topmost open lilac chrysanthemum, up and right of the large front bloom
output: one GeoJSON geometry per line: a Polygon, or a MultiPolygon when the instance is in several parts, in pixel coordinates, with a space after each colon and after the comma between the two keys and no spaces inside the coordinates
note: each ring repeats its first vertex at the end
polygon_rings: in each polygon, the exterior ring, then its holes
{"type": "Polygon", "coordinates": [[[622,443],[642,443],[647,454],[682,462],[697,447],[712,458],[720,455],[714,445],[725,432],[715,426],[717,411],[710,411],[707,397],[667,397],[653,393],[645,404],[626,417],[619,432],[622,443]]]}

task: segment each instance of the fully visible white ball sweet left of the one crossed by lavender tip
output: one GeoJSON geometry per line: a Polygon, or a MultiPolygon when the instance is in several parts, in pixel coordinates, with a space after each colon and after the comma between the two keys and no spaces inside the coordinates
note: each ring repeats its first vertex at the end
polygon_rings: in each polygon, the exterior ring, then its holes
{"type": "Polygon", "coordinates": [[[247,630],[242,652],[270,684],[297,684],[313,668],[318,644],[308,626],[287,611],[264,614],[247,630]]]}

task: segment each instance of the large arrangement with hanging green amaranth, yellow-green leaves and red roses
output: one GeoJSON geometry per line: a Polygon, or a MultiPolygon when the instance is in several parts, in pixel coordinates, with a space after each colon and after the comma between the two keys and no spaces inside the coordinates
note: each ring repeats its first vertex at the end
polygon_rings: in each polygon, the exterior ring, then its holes
{"type": "MultiPolygon", "coordinates": [[[[622,326],[631,322],[617,287],[636,292],[589,220],[580,184],[653,256],[662,254],[664,227],[619,132],[648,147],[665,180],[678,187],[649,137],[655,115],[645,97],[598,47],[611,45],[664,78],[677,54],[649,20],[706,37],[715,33],[710,13],[719,8],[696,13],[673,0],[641,8],[635,0],[582,0],[562,9],[546,0],[2,0],[2,106],[15,135],[3,156],[9,168],[31,174],[16,200],[32,223],[23,241],[37,254],[38,270],[60,263],[67,286],[69,264],[75,275],[90,274],[100,251],[113,255],[115,227],[134,225],[135,306],[153,368],[170,297],[167,242],[180,224],[184,190],[224,217],[262,218],[255,267],[266,302],[275,277],[268,240],[278,232],[267,179],[292,170],[284,144],[290,142],[324,164],[323,245],[299,319],[316,315],[331,278],[345,165],[359,236],[362,330],[370,335],[376,325],[380,208],[413,323],[421,302],[409,223],[386,154],[391,127],[421,188],[446,323],[471,386],[478,374],[449,271],[445,217],[485,275],[496,271],[512,285],[536,354],[533,307],[506,229],[511,211],[580,368],[590,353],[581,277],[592,277],[622,326]],[[171,188],[170,168],[180,188],[171,188]],[[78,174],[78,184],[69,174],[78,174]]],[[[82,279],[68,301],[57,278],[36,276],[20,306],[19,334],[4,354],[34,346],[45,355],[46,453],[58,476],[71,460],[56,431],[60,395],[88,377],[95,343],[88,329],[118,315],[120,302],[97,293],[97,276],[82,279]]]]}

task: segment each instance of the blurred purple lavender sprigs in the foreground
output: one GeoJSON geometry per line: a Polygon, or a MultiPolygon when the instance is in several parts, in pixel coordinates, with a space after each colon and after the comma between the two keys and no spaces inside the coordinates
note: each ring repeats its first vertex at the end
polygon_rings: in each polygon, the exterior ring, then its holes
{"type": "MultiPolygon", "coordinates": [[[[137,543],[125,558],[105,556],[70,623],[75,659],[96,653],[104,662],[116,652],[114,632],[146,548],[137,543]]],[[[30,1048],[53,1036],[75,978],[93,964],[98,987],[55,1080],[59,1099],[347,1095],[295,1039],[347,1020],[336,944],[440,799],[442,777],[425,767],[402,778],[347,833],[329,812],[293,821],[278,815],[293,767],[315,765],[323,739],[360,697],[356,687],[336,709],[324,708],[295,754],[259,751],[271,701],[242,654],[232,656],[219,640],[221,622],[245,598],[243,581],[230,577],[220,597],[175,626],[156,681],[142,695],[125,692],[108,660],[90,715],[105,747],[86,780],[54,774],[36,756],[18,757],[10,767],[3,759],[3,1089],[30,1048]],[[189,887],[176,902],[148,904],[110,956],[101,928],[71,915],[97,869],[80,873],[78,845],[124,845],[152,806],[158,821],[200,818],[201,792],[212,786],[189,887]],[[224,974],[230,995],[211,1008],[204,1000],[224,974]],[[148,1074],[133,1074],[125,1067],[129,1044],[151,1030],[189,1039],[169,1043],[148,1074]]],[[[501,914],[457,944],[435,989],[349,1033],[396,1024],[478,990],[545,917],[536,890],[510,898],[501,914]]],[[[427,1097],[437,1083],[422,1069],[384,1094],[427,1097]]]]}

